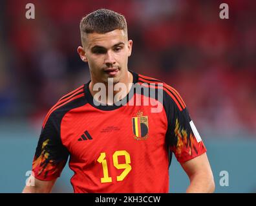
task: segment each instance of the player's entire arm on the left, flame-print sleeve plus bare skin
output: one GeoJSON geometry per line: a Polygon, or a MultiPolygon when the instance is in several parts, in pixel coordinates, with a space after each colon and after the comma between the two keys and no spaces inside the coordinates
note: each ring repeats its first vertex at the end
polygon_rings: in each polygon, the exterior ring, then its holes
{"type": "Polygon", "coordinates": [[[50,115],[42,127],[32,162],[32,175],[28,178],[23,193],[51,192],[69,157],[69,151],[60,137],[61,119],[50,115]]]}

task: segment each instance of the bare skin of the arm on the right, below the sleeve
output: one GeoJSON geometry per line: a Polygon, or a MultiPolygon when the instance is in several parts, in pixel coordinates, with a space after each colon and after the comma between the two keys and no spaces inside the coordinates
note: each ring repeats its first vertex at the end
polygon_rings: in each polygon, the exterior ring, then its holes
{"type": "Polygon", "coordinates": [[[181,163],[181,165],[190,180],[190,185],[187,187],[186,191],[187,193],[214,192],[215,183],[213,173],[206,153],[181,163]]]}

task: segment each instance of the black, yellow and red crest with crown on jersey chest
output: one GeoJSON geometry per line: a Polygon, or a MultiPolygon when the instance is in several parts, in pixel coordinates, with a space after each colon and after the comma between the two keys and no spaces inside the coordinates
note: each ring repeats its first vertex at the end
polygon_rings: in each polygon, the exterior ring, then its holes
{"type": "Polygon", "coordinates": [[[136,116],[132,118],[134,138],[136,140],[145,140],[148,138],[149,120],[147,116],[143,116],[142,111],[138,111],[136,116]]]}

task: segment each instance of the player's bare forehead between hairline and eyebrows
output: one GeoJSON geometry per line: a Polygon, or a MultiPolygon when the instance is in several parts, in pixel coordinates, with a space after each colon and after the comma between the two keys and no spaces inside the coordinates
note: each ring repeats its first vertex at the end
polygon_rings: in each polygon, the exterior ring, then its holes
{"type": "Polygon", "coordinates": [[[118,42],[127,41],[127,35],[123,30],[113,30],[107,33],[87,33],[85,35],[85,45],[87,48],[93,46],[103,46],[109,48],[118,42]]]}

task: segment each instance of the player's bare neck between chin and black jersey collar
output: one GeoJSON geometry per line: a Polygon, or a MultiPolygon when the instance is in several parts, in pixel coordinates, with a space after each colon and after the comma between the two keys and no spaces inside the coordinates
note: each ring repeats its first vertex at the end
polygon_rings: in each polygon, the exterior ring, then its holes
{"type": "Polygon", "coordinates": [[[129,93],[132,86],[131,83],[133,83],[133,74],[127,70],[124,77],[116,84],[113,84],[111,80],[107,83],[101,82],[105,85],[105,89],[93,89],[96,83],[98,82],[91,81],[89,84],[92,97],[97,96],[96,100],[102,104],[112,105],[114,102],[120,101],[129,93]],[[97,93],[100,93],[100,95],[96,95],[97,93]]]}

